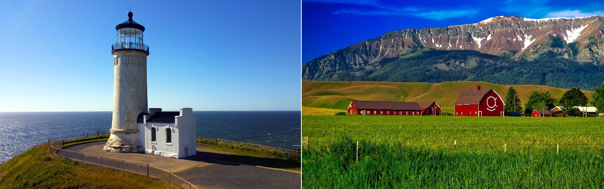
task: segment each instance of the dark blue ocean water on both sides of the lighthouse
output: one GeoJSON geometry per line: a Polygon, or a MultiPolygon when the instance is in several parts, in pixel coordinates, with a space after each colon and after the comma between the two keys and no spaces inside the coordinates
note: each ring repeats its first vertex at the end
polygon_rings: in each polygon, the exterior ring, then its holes
{"type": "MultiPolygon", "coordinates": [[[[0,162],[68,135],[111,129],[111,112],[0,112],[0,162]]],[[[300,111],[193,111],[197,136],[300,148],[300,111]]]]}

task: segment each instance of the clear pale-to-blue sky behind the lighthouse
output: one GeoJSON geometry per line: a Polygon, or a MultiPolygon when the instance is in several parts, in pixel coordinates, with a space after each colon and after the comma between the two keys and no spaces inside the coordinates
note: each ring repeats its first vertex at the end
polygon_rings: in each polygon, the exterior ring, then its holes
{"type": "Polygon", "coordinates": [[[150,46],[149,107],[300,110],[300,1],[0,4],[0,111],[111,111],[129,6],[150,46]]]}

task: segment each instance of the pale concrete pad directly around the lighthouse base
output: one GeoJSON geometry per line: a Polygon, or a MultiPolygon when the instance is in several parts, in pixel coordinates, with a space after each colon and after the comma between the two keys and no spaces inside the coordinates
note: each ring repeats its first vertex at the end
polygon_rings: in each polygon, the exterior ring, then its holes
{"type": "Polygon", "coordinates": [[[209,150],[201,147],[197,148],[197,154],[189,156],[187,159],[175,159],[164,156],[154,156],[144,153],[112,153],[105,152],[103,150],[104,144],[87,147],[79,150],[83,153],[89,153],[97,156],[104,156],[109,158],[126,159],[129,161],[141,162],[143,164],[153,165],[157,168],[161,168],[172,173],[185,170],[187,168],[195,167],[196,165],[204,164],[214,159],[222,158],[226,155],[231,155],[233,152],[223,152],[219,150],[209,150]],[[188,160],[188,159],[195,159],[188,160]]]}

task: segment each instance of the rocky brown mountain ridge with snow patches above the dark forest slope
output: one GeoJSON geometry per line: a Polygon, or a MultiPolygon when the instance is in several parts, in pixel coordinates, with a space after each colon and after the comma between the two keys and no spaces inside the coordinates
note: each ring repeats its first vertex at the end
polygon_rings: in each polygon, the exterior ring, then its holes
{"type": "MultiPolygon", "coordinates": [[[[481,53],[532,61],[539,57],[568,59],[582,64],[604,63],[604,18],[530,19],[495,16],[476,24],[441,28],[413,28],[385,33],[304,63],[303,80],[341,80],[338,72],[377,71],[383,59],[412,54],[424,48],[476,50],[481,53]]],[[[407,82],[407,81],[397,81],[407,82]]]]}

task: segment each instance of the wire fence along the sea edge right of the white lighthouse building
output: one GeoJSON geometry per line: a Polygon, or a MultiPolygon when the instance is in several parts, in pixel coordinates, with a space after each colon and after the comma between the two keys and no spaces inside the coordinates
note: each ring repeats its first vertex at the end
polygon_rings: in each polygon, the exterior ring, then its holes
{"type": "Polygon", "coordinates": [[[280,159],[288,159],[300,161],[300,150],[280,149],[270,146],[262,146],[257,144],[240,143],[236,141],[228,141],[225,139],[208,138],[197,136],[196,143],[208,144],[217,147],[225,147],[230,149],[244,150],[246,152],[256,153],[259,155],[268,155],[280,159]]]}

